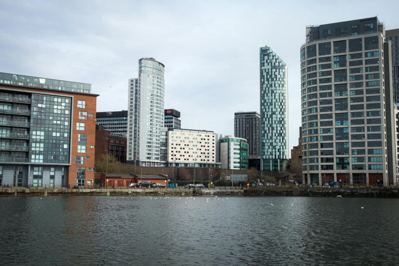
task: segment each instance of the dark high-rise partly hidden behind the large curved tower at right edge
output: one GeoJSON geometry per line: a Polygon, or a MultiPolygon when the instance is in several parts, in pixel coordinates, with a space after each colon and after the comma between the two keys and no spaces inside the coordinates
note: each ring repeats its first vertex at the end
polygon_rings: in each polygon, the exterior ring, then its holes
{"type": "Polygon", "coordinates": [[[392,48],[392,91],[393,103],[399,105],[399,29],[385,31],[386,41],[392,48]]]}

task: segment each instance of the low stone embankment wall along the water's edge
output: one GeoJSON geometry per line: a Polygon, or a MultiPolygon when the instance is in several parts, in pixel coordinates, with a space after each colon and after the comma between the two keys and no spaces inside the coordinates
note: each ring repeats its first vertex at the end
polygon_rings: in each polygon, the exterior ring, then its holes
{"type": "Polygon", "coordinates": [[[286,189],[286,188],[251,188],[234,189],[67,189],[67,188],[0,188],[0,196],[294,196],[294,197],[367,197],[367,198],[399,198],[398,189],[286,189]]]}

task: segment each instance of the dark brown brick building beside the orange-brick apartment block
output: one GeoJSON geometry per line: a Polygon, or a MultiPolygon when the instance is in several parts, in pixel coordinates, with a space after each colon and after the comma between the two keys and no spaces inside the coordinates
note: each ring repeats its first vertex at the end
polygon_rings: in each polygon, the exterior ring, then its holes
{"type": "Polygon", "coordinates": [[[111,134],[108,130],[96,130],[95,161],[101,159],[101,154],[109,154],[115,156],[119,162],[126,163],[126,146],[126,137],[111,134]]]}

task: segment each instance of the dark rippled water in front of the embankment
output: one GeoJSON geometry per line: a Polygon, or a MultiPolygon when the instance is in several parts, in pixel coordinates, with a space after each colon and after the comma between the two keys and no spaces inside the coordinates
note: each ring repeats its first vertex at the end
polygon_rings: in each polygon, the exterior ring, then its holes
{"type": "Polygon", "coordinates": [[[3,197],[0,264],[397,263],[397,199],[206,199],[3,197]]]}

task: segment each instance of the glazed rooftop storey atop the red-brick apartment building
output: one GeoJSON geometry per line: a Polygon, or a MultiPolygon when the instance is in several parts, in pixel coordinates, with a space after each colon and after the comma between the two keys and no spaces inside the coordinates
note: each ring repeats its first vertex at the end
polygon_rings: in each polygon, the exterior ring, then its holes
{"type": "Polygon", "coordinates": [[[0,72],[0,84],[91,94],[91,84],[0,72]]]}

